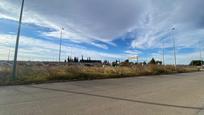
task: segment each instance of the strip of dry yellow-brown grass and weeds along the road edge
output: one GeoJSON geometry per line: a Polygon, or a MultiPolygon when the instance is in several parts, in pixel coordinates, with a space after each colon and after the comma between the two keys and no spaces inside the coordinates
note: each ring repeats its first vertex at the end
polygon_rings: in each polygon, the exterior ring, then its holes
{"type": "Polygon", "coordinates": [[[106,78],[134,77],[197,71],[192,67],[145,65],[131,67],[85,67],[68,65],[18,65],[17,79],[11,80],[11,67],[0,67],[0,85],[30,84],[67,80],[92,80],[106,78]]]}

